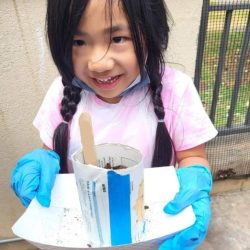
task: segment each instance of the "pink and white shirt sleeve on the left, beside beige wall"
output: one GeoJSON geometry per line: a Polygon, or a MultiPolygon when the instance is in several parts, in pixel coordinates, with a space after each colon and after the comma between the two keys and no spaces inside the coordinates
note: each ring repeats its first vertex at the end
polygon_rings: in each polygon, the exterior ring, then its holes
{"type": "Polygon", "coordinates": [[[48,89],[33,121],[33,125],[38,129],[42,142],[49,148],[53,148],[54,131],[63,120],[60,114],[62,97],[63,84],[61,77],[58,77],[48,89]]]}

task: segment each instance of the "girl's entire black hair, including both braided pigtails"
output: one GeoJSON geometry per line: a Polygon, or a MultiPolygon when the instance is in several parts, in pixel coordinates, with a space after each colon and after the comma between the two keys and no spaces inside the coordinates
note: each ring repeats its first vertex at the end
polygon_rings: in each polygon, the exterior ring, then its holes
{"type": "MultiPolygon", "coordinates": [[[[123,9],[131,31],[135,53],[141,73],[143,68],[150,78],[150,92],[158,120],[165,111],[161,99],[164,73],[164,51],[168,47],[169,26],[164,0],[117,0],[123,9]],[[146,53],[145,53],[146,51],[146,53]],[[147,61],[145,65],[145,57],[147,61]]],[[[80,102],[81,89],[72,85],[73,36],[89,0],[48,0],[47,36],[52,58],[62,75],[64,84],[61,115],[53,136],[53,149],[60,155],[61,173],[67,172],[68,126],[80,102]]],[[[112,0],[106,4],[112,10],[112,0]]],[[[112,13],[112,11],[110,12],[112,13]]],[[[112,15],[112,14],[111,14],[112,15]]],[[[111,17],[112,19],[112,17],[111,17]]],[[[158,122],[152,166],[167,166],[173,156],[173,143],[164,122],[158,122]]]]}

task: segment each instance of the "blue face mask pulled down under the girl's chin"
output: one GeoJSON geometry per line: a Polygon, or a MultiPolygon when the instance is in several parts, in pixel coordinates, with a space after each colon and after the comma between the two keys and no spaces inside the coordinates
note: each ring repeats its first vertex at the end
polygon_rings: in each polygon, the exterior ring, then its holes
{"type": "MultiPolygon", "coordinates": [[[[91,89],[85,82],[81,81],[76,76],[72,80],[72,84],[78,88],[81,88],[83,90],[87,90],[89,92],[95,93],[93,89],[91,89]]],[[[143,88],[150,84],[150,79],[148,76],[148,73],[146,69],[143,71],[143,76],[139,74],[136,79],[119,95],[120,97],[126,96],[127,94],[138,90],[140,88],[143,88]]]]}

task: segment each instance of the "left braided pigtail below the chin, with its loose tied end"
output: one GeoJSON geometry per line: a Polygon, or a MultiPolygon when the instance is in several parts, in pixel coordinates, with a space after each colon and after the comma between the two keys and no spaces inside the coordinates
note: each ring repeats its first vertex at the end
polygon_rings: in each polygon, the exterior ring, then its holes
{"type": "Polygon", "coordinates": [[[61,102],[61,115],[63,122],[61,122],[55,129],[53,136],[53,149],[60,156],[60,173],[67,173],[67,155],[68,155],[68,139],[69,139],[69,122],[72,120],[76,112],[77,104],[81,100],[81,89],[67,84],[63,78],[64,91],[61,102]]]}

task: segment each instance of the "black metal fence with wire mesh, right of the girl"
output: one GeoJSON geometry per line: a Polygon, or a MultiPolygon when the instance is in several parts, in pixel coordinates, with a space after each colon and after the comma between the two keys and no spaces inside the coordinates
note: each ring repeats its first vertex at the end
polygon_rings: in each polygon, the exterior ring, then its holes
{"type": "Polygon", "coordinates": [[[208,143],[215,179],[250,174],[250,0],[204,0],[195,85],[219,136],[208,143]]]}

